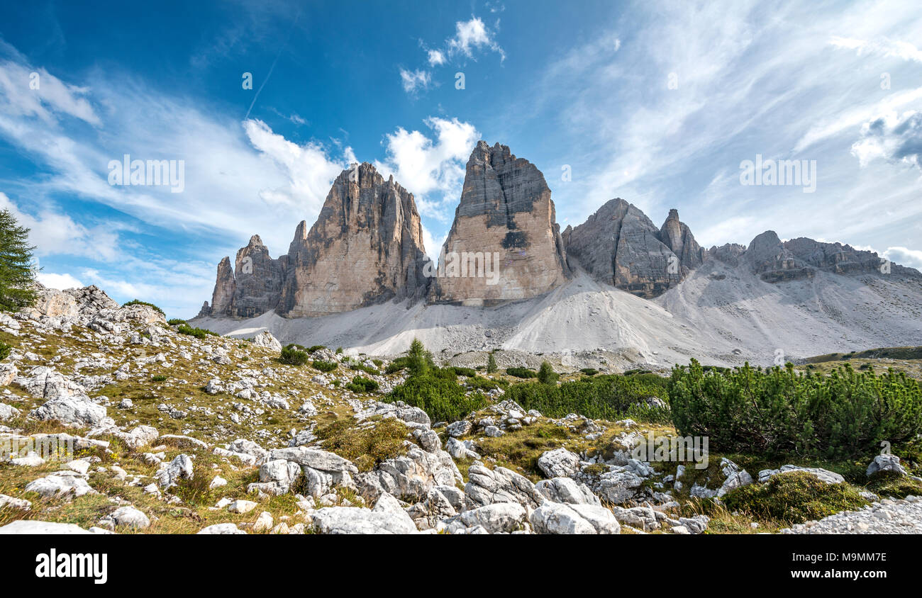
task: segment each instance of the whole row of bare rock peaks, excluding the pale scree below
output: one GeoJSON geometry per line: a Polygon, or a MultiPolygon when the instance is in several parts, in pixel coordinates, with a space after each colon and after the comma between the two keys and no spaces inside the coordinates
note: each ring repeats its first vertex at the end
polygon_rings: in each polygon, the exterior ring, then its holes
{"type": "Polygon", "coordinates": [[[637,206],[615,198],[562,233],[550,187],[508,146],[481,140],[467,160],[455,221],[438,263],[425,255],[413,194],[368,162],[339,173],[313,226],[295,229],[289,251],[272,259],[259,235],[218,265],[210,306],[199,315],[251,318],[268,311],[313,317],[382,303],[498,305],[546,295],[584,269],[598,282],[654,299],[708,260],[763,282],[813,278],[818,271],[861,275],[885,269],[918,276],[874,252],[773,230],[749,246],[704,251],[672,208],[656,227],[637,206]]]}

